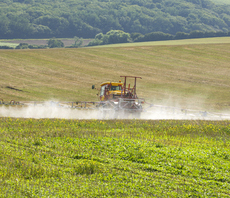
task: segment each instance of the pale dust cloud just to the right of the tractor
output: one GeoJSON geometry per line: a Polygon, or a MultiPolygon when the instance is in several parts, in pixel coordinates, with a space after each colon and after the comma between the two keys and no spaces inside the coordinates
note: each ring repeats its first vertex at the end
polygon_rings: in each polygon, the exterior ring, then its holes
{"type": "Polygon", "coordinates": [[[159,105],[147,108],[142,114],[142,119],[173,119],[173,120],[226,120],[230,119],[230,113],[213,112],[207,108],[205,98],[186,98],[183,100],[164,99],[159,105]]]}

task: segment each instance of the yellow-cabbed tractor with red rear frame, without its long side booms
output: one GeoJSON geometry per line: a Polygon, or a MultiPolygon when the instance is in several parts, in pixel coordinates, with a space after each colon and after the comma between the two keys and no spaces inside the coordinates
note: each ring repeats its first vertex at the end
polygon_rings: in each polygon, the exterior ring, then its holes
{"type": "MultiPolygon", "coordinates": [[[[102,117],[111,118],[140,118],[143,111],[143,98],[137,97],[137,79],[142,79],[137,76],[120,76],[124,78],[124,83],[121,82],[105,82],[101,84],[99,90],[100,102],[97,107],[102,117]],[[127,84],[127,79],[134,79],[133,87],[127,84]]],[[[95,89],[95,86],[92,86],[95,89]]]]}

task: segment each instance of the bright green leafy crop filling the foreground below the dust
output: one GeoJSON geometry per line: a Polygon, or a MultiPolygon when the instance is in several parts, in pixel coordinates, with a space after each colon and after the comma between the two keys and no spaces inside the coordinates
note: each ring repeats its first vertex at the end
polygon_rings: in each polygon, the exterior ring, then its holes
{"type": "Polygon", "coordinates": [[[0,119],[1,197],[229,197],[229,121],[0,119]]]}

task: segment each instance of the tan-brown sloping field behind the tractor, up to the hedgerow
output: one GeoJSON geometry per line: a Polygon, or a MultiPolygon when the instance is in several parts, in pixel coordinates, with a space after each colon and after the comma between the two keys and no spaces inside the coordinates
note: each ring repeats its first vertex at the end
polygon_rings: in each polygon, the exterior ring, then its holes
{"type": "Polygon", "coordinates": [[[172,45],[147,42],[101,48],[1,50],[0,98],[95,101],[97,92],[91,90],[92,84],[99,87],[103,81],[133,75],[143,78],[138,81],[138,95],[149,101],[229,109],[229,41],[228,37],[173,41],[172,45]]]}

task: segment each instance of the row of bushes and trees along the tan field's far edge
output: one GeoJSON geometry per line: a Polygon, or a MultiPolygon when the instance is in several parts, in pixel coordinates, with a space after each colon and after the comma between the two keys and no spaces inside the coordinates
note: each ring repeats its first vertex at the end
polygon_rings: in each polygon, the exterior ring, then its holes
{"type": "MultiPolygon", "coordinates": [[[[176,35],[163,33],[163,32],[151,32],[148,34],[141,33],[126,33],[122,30],[110,30],[106,34],[99,33],[95,38],[89,42],[87,46],[107,45],[116,43],[129,43],[129,42],[145,42],[145,41],[163,41],[163,40],[178,40],[178,39],[191,39],[191,38],[209,38],[209,37],[225,37],[230,36],[229,32],[213,32],[213,31],[192,31],[190,33],[177,32],[176,35]]],[[[83,47],[83,39],[74,37],[75,42],[71,46],[66,48],[78,48],[83,47]]],[[[84,46],[84,47],[87,47],[84,46]]],[[[60,39],[49,39],[47,45],[29,45],[27,43],[20,43],[15,49],[42,49],[42,48],[63,48],[64,43],[60,39]]],[[[0,46],[0,49],[14,49],[9,46],[0,46]]]]}

